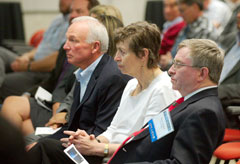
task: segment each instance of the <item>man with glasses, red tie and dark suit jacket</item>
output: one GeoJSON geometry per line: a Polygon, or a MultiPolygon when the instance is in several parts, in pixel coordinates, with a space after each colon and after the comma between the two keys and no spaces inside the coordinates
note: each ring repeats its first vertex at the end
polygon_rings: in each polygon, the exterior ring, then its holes
{"type": "MultiPolygon", "coordinates": [[[[170,111],[174,130],[152,142],[149,127],[136,135],[110,164],[207,164],[221,143],[225,121],[217,95],[223,53],[207,39],[183,41],[169,70],[173,89],[184,101],[170,111]]],[[[155,129],[156,131],[158,129],[155,129]]]]}

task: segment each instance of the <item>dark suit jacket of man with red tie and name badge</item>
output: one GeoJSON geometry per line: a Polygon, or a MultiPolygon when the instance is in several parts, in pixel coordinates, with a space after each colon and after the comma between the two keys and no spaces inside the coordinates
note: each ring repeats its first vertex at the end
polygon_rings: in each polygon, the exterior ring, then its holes
{"type": "Polygon", "coordinates": [[[123,146],[111,164],[208,164],[225,129],[217,89],[197,93],[170,115],[174,132],[152,143],[147,128],[123,146]]]}

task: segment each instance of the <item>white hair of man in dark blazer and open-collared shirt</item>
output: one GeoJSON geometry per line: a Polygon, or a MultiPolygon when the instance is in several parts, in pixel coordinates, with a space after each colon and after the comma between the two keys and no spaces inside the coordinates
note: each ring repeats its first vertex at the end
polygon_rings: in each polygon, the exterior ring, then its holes
{"type": "Polygon", "coordinates": [[[89,27],[88,36],[86,38],[87,43],[92,43],[94,41],[99,41],[101,44],[101,52],[105,53],[108,50],[108,32],[106,27],[100,23],[97,19],[90,16],[80,16],[74,18],[72,23],[75,22],[86,22],[89,27]]]}

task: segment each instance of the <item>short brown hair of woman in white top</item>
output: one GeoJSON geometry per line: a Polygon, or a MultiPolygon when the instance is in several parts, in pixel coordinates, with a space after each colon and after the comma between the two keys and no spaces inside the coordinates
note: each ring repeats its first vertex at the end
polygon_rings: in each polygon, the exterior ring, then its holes
{"type": "Polygon", "coordinates": [[[148,49],[147,67],[158,67],[161,33],[156,24],[150,24],[146,21],[132,23],[116,30],[114,40],[116,44],[128,40],[130,50],[137,57],[141,57],[143,48],[148,49]]]}

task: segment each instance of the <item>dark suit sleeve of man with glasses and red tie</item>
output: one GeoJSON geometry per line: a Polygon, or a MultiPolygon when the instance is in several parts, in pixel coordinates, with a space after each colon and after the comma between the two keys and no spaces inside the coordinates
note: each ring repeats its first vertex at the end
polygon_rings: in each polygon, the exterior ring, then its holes
{"type": "Polygon", "coordinates": [[[221,133],[216,114],[210,110],[194,112],[183,121],[173,140],[170,159],[154,161],[154,164],[203,164],[210,161],[221,133]]]}

